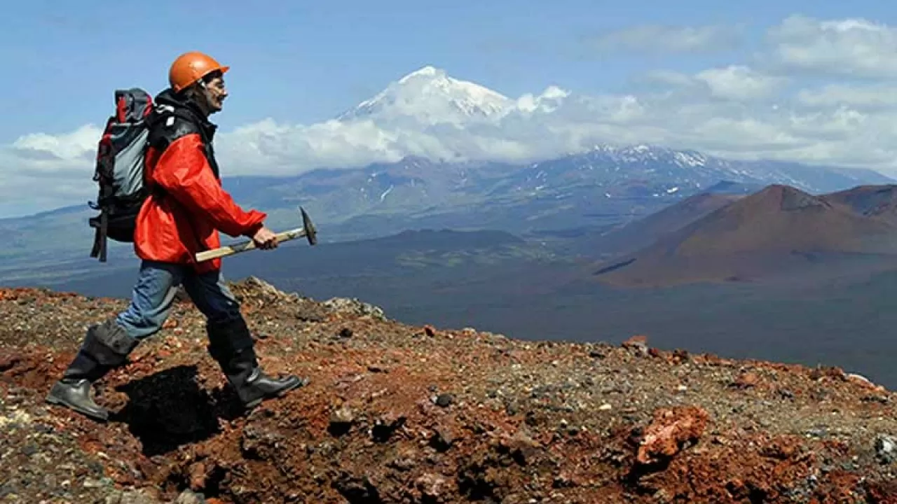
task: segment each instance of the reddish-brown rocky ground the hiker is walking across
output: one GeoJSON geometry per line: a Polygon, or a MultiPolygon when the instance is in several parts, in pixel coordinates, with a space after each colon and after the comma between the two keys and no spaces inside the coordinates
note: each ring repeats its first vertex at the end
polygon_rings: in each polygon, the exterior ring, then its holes
{"type": "Polygon", "coordinates": [[[897,503],[895,396],[841,369],[406,326],[354,300],[233,285],[271,373],[251,413],[179,302],[96,388],[43,403],[126,306],[0,290],[0,501],[897,503]]]}

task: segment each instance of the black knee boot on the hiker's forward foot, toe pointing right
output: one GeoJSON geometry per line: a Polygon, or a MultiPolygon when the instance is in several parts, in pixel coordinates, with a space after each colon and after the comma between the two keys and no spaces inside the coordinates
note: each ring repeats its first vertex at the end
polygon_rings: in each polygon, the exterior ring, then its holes
{"type": "Polygon", "coordinates": [[[252,336],[246,321],[236,318],[226,323],[206,326],[209,335],[208,351],[221,366],[240,402],[252,409],[265,399],[283,395],[309,383],[306,378],[289,376],[271,378],[258,366],[252,336]]]}

